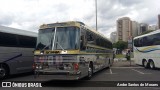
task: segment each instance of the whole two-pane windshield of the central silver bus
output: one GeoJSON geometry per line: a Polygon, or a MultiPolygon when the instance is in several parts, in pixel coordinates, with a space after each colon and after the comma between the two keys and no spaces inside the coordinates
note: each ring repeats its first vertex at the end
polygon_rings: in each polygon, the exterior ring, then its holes
{"type": "Polygon", "coordinates": [[[80,30],[77,27],[56,27],[39,30],[36,49],[71,50],[79,49],[80,30]],[[54,45],[53,45],[54,44],[54,45]]]}

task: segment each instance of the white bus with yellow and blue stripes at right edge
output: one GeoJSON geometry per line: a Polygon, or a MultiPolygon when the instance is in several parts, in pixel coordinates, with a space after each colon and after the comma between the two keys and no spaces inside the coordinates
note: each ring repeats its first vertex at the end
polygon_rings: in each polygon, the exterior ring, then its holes
{"type": "Polygon", "coordinates": [[[160,30],[134,38],[134,59],[145,68],[160,68],[160,30]]]}

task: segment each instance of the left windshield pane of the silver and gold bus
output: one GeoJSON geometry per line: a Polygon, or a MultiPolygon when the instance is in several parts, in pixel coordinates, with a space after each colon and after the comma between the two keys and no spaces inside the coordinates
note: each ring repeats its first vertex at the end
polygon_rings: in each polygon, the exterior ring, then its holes
{"type": "Polygon", "coordinates": [[[39,30],[36,49],[38,50],[51,49],[54,32],[55,32],[54,28],[39,30]]]}

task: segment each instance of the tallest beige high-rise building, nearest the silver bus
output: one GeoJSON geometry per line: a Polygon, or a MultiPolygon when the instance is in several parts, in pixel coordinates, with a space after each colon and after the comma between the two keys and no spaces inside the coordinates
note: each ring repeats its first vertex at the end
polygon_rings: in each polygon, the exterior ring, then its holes
{"type": "Polygon", "coordinates": [[[132,37],[131,20],[129,17],[117,20],[117,39],[127,42],[132,37]]]}

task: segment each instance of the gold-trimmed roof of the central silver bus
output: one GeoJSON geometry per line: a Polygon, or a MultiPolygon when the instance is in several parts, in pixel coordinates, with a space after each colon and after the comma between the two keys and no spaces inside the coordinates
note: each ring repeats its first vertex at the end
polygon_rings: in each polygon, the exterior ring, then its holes
{"type": "Polygon", "coordinates": [[[65,27],[65,26],[83,26],[84,28],[86,28],[87,30],[101,36],[102,38],[108,40],[109,42],[111,42],[108,38],[106,38],[103,34],[97,32],[95,29],[87,26],[86,24],[84,24],[83,22],[80,21],[68,21],[68,22],[57,22],[57,23],[50,23],[50,24],[43,24],[40,26],[40,29],[44,29],[44,28],[52,28],[52,27],[65,27]]]}

